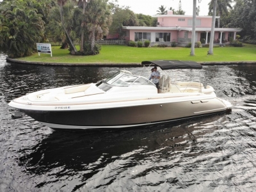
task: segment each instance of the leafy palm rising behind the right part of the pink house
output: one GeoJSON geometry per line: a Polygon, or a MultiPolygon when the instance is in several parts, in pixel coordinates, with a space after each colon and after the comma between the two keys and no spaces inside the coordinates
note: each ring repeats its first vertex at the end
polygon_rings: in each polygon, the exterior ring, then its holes
{"type": "MultiPolygon", "coordinates": [[[[232,0],[218,0],[217,3],[217,7],[216,7],[216,13],[218,13],[218,16],[222,16],[222,15],[227,15],[228,13],[228,8],[232,8],[231,3],[233,1],[232,0]]],[[[209,15],[212,14],[212,10],[213,10],[213,3],[214,0],[211,0],[209,5],[209,15]]],[[[220,18],[218,19],[218,28],[220,28],[220,18]]]]}

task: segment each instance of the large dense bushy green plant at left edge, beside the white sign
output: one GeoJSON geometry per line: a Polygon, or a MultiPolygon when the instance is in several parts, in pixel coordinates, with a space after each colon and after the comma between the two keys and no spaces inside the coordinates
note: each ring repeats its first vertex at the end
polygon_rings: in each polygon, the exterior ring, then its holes
{"type": "MultiPolygon", "coordinates": [[[[31,1],[30,1],[31,2],[31,1]]],[[[32,1],[36,3],[36,1],[32,1]]],[[[0,50],[10,58],[33,54],[44,38],[44,20],[29,1],[3,1],[0,10],[0,50]]]]}

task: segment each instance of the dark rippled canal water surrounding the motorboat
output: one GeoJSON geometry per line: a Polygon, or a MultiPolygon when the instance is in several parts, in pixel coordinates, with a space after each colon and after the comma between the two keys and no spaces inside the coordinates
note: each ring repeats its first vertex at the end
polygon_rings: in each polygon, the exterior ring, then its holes
{"type": "Polygon", "coordinates": [[[5,57],[0,55],[0,191],[256,191],[256,65],[201,70],[204,83],[233,104],[232,113],[76,132],[53,131],[26,115],[12,119],[17,110],[8,102],[140,68],[20,65],[5,57]]]}

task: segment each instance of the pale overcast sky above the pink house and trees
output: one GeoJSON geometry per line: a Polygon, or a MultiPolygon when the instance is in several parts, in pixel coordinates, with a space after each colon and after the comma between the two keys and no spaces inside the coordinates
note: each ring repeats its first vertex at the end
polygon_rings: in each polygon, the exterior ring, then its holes
{"type": "MultiPolygon", "coordinates": [[[[196,6],[200,6],[199,15],[208,15],[208,3],[210,0],[202,0],[200,4],[196,0],[196,6]]],[[[134,13],[143,13],[144,15],[156,15],[159,6],[163,5],[166,10],[170,7],[178,10],[179,0],[118,0],[120,6],[130,6],[134,13]]],[[[193,0],[181,0],[181,7],[185,15],[193,15],[193,0]]]]}

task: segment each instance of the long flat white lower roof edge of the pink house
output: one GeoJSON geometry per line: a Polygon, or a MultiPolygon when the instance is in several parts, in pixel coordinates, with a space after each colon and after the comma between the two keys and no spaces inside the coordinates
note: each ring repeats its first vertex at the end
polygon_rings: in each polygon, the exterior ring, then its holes
{"type": "MultiPolygon", "coordinates": [[[[169,31],[192,31],[191,28],[182,28],[182,27],[141,27],[141,26],[124,26],[123,29],[136,29],[136,30],[169,30],[169,31]]],[[[239,32],[242,29],[240,28],[214,28],[214,31],[222,31],[222,32],[239,32]]],[[[211,28],[196,28],[196,31],[209,31],[211,32],[211,28]]]]}

